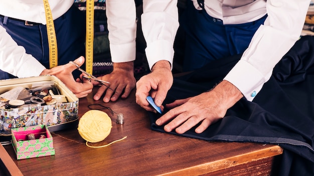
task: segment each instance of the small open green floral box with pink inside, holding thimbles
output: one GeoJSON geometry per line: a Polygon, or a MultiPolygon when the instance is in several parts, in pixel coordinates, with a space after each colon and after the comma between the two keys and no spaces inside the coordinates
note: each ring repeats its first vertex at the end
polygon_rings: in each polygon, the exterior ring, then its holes
{"type": "Polygon", "coordinates": [[[52,135],[46,125],[12,128],[11,132],[17,159],[55,155],[52,135]]]}

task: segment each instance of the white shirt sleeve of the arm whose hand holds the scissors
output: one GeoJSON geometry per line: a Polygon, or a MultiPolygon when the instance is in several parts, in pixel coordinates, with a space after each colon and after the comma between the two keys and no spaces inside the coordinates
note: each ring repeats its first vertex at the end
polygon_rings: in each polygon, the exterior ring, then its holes
{"type": "Polygon", "coordinates": [[[35,57],[27,54],[0,26],[0,69],[17,77],[38,76],[45,69],[35,57]]]}

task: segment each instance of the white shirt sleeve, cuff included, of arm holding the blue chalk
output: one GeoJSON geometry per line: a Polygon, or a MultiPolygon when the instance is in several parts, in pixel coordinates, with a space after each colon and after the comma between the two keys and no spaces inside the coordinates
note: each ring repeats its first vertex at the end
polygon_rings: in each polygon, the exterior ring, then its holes
{"type": "Polygon", "coordinates": [[[177,0],[143,0],[141,26],[149,68],[160,60],[168,60],[173,65],[179,27],[177,0]]]}

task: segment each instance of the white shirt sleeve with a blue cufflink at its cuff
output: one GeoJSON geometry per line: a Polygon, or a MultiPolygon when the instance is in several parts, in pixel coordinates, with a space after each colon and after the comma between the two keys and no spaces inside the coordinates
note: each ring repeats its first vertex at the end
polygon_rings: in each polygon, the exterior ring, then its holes
{"type": "Polygon", "coordinates": [[[240,61],[224,78],[250,101],[269,80],[274,66],[299,38],[309,0],[267,0],[267,18],[240,61]]]}

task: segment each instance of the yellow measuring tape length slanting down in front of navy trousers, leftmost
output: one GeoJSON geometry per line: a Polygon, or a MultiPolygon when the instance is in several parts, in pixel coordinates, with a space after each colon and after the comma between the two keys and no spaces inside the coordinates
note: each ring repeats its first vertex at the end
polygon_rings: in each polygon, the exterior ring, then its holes
{"type": "Polygon", "coordinates": [[[45,14],[46,14],[46,26],[49,43],[49,66],[50,68],[58,65],[58,49],[57,49],[57,37],[55,32],[55,25],[51,13],[51,9],[48,0],[44,0],[45,14]]]}

